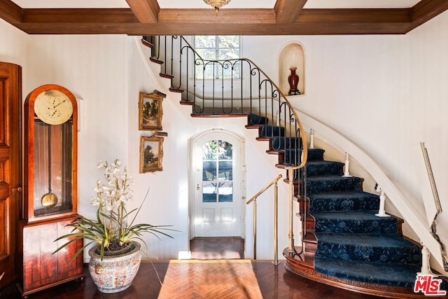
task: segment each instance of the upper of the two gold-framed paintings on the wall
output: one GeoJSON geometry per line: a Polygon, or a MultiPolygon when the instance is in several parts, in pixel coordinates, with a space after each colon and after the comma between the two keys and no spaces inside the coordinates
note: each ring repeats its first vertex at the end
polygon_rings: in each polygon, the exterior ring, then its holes
{"type": "Polygon", "coordinates": [[[166,95],[158,90],[153,93],[140,92],[139,130],[162,130],[162,101],[166,95]]]}

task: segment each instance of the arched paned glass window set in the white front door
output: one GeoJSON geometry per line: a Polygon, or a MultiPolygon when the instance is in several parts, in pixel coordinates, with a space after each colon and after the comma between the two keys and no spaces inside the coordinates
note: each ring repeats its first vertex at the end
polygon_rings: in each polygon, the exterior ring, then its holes
{"type": "Polygon", "coordinates": [[[232,144],[211,140],[202,145],[202,202],[233,202],[232,144]]]}

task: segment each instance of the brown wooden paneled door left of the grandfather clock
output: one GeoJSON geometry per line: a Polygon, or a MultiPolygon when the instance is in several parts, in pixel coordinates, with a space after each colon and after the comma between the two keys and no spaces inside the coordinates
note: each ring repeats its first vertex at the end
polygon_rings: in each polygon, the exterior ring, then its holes
{"type": "Polygon", "coordinates": [[[0,62],[0,281],[17,278],[15,267],[19,204],[22,200],[20,118],[22,68],[0,62]]]}

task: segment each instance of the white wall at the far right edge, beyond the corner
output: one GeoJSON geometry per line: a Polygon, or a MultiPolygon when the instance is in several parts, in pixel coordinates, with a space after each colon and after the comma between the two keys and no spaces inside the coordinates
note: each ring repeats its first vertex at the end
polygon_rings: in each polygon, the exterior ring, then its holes
{"type": "MultiPolygon", "coordinates": [[[[428,24],[409,34],[411,68],[410,97],[407,105],[409,134],[407,144],[426,143],[442,214],[437,218],[437,233],[448,246],[448,13],[445,12],[428,24]]],[[[404,169],[406,170],[406,169],[404,169]]],[[[419,190],[416,176],[407,176],[405,182],[415,195],[419,190]],[[414,186],[414,188],[412,188],[414,186]]]]}

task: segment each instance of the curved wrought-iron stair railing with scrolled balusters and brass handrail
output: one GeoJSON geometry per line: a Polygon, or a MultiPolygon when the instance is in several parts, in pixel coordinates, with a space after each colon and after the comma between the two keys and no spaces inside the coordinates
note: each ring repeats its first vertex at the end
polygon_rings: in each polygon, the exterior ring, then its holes
{"type": "MultiPolygon", "coordinates": [[[[279,155],[276,167],[287,171],[288,251],[294,252],[293,202],[297,194],[294,186],[299,186],[297,198],[303,207],[308,148],[300,118],[287,97],[265,71],[249,59],[204,60],[183,36],[144,36],[142,43],[152,48],[151,61],[165,64],[160,76],[171,79],[169,90],[181,93],[181,104],[192,106],[191,116],[247,116],[246,127],[258,129],[257,140],[269,141],[267,153],[279,155]],[[205,74],[213,76],[207,78],[205,74]]],[[[303,247],[306,213],[302,209],[300,217],[303,247]]]]}

